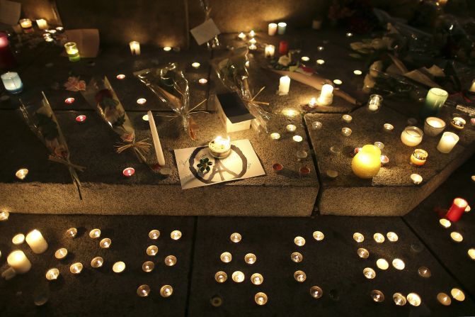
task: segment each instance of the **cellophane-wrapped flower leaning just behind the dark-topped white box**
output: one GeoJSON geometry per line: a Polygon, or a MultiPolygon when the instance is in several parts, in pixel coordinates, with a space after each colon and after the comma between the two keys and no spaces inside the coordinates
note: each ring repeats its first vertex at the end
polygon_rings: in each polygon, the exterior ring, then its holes
{"type": "Polygon", "coordinates": [[[236,48],[223,57],[217,57],[212,60],[212,67],[221,79],[225,87],[231,91],[236,91],[246,104],[248,111],[254,116],[258,129],[268,133],[267,122],[270,120],[270,113],[263,109],[262,105],[268,105],[267,102],[256,101],[258,94],[263,91],[261,88],[257,94],[251,91],[249,83],[249,74],[246,67],[248,48],[236,48]]]}

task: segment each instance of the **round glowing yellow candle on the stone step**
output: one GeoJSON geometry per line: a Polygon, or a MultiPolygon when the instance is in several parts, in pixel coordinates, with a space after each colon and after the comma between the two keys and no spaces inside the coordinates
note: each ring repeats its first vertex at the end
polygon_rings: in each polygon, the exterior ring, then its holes
{"type": "Polygon", "coordinates": [[[381,150],[374,145],[365,145],[351,161],[351,169],[357,177],[371,179],[381,168],[381,150]]]}

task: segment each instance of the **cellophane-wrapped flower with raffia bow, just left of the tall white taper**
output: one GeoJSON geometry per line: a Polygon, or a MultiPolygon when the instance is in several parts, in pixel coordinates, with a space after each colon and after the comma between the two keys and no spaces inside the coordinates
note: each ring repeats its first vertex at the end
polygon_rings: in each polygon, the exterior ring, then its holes
{"type": "Polygon", "coordinates": [[[140,162],[147,162],[145,155],[149,152],[151,145],[145,140],[135,140],[135,129],[132,126],[124,106],[120,103],[117,94],[110,86],[107,77],[93,78],[81,91],[84,99],[99,113],[99,116],[108,123],[110,128],[120,136],[122,143],[116,146],[117,152],[121,153],[132,148],[140,162]]]}

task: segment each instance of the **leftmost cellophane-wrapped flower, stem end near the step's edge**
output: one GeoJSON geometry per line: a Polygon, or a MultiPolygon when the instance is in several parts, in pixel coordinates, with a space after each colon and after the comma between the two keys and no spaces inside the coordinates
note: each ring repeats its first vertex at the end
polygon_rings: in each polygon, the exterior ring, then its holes
{"type": "Polygon", "coordinates": [[[41,101],[33,102],[28,106],[22,100],[20,100],[20,103],[20,110],[25,122],[50,151],[48,160],[68,167],[71,179],[78,189],[79,199],[82,199],[81,182],[79,182],[76,169],[83,172],[85,167],[75,165],[69,160],[68,145],[61,128],[59,128],[55,113],[51,109],[50,102],[46,99],[45,93],[42,92],[41,101]]]}

